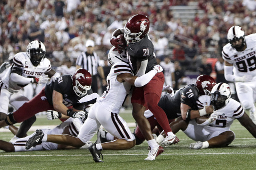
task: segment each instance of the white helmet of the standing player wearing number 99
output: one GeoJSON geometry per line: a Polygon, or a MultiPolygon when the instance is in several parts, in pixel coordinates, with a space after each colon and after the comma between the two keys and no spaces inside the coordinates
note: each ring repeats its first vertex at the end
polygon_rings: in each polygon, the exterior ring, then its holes
{"type": "Polygon", "coordinates": [[[240,51],[244,45],[244,31],[242,31],[242,28],[240,26],[232,26],[229,28],[227,32],[227,39],[232,47],[234,47],[237,51],[240,51]],[[240,44],[236,44],[236,41],[239,41],[241,39],[240,44]]]}

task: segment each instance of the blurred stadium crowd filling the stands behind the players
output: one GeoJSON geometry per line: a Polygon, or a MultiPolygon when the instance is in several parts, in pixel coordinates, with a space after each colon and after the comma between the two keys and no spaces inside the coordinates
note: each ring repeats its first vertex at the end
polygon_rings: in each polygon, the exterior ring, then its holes
{"type": "Polygon", "coordinates": [[[221,57],[231,26],[256,32],[255,9],[254,0],[0,0],[0,64],[35,39],[44,43],[53,68],[66,59],[74,66],[87,39],[104,60],[113,30],[141,13],[149,17],[159,61],[168,57],[184,74],[201,74],[203,58],[212,64],[221,57]]]}

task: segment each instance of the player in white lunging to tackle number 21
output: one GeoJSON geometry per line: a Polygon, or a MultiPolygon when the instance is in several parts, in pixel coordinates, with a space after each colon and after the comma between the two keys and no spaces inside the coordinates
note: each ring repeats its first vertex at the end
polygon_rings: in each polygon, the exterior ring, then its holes
{"type": "MultiPolygon", "coordinates": [[[[120,51],[115,47],[109,50],[108,61],[112,67],[106,78],[107,90],[91,106],[88,118],[82,125],[77,138],[64,135],[43,135],[41,132],[27,141],[27,149],[35,146],[41,140],[81,147],[94,136],[101,125],[117,139],[108,143],[92,144],[88,148],[95,162],[102,162],[100,160],[101,150],[124,150],[135,146],[135,137],[130,132],[127,123],[119,116],[119,110],[131,90],[131,85],[144,86],[155,74],[162,71],[162,68],[159,65],[154,66],[143,76],[133,76],[126,51],[120,51]]],[[[159,147],[158,152],[157,155],[163,152],[162,147],[159,147]]]]}

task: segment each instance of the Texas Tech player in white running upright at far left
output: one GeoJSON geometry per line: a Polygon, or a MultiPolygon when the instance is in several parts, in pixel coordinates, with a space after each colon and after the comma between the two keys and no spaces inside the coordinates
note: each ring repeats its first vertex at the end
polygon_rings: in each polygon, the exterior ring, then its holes
{"type": "MultiPolygon", "coordinates": [[[[16,110],[28,99],[18,93],[22,87],[29,83],[46,83],[49,78],[55,80],[59,73],[51,69],[50,61],[45,58],[45,46],[41,41],[31,41],[26,52],[19,52],[14,55],[13,63],[4,71],[0,80],[0,120],[6,118],[9,103],[16,110]]],[[[17,137],[24,137],[23,128],[30,127],[35,121],[35,116],[21,123],[17,137]]],[[[24,130],[26,131],[26,130],[24,130]]]]}

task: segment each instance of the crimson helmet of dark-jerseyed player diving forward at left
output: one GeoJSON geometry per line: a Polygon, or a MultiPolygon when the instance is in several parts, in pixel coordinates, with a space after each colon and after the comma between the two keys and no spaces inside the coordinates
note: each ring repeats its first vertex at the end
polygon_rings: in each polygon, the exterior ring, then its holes
{"type": "Polygon", "coordinates": [[[85,96],[87,90],[91,87],[91,75],[90,73],[82,68],[79,68],[72,75],[73,90],[77,96],[85,96]]]}

